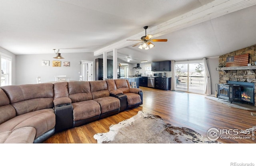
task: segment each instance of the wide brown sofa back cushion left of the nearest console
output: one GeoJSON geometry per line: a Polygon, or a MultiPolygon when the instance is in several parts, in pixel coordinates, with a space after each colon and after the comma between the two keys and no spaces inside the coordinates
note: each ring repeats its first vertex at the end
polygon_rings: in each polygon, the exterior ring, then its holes
{"type": "Polygon", "coordinates": [[[52,83],[9,85],[1,88],[15,108],[16,115],[53,108],[52,83]]]}

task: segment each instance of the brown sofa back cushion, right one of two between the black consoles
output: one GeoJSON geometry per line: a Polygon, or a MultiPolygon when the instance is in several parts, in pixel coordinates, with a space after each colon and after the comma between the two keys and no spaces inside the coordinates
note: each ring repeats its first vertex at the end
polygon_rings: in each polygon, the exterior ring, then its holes
{"type": "Polygon", "coordinates": [[[93,99],[98,99],[100,97],[108,97],[110,95],[108,91],[108,84],[106,81],[90,81],[90,85],[93,99]]]}

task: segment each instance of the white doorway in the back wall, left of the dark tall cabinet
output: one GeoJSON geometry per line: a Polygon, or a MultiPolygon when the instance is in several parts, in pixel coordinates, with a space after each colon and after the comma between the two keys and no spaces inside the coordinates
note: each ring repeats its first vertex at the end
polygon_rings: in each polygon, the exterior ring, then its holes
{"type": "Polygon", "coordinates": [[[93,61],[84,61],[82,60],[82,73],[83,76],[82,81],[93,81],[93,73],[94,73],[94,67],[93,67],[93,61]]]}

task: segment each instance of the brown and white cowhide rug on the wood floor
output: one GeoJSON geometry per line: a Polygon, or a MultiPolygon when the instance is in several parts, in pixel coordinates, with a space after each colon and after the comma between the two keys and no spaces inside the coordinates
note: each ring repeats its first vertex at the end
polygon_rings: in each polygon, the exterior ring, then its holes
{"type": "Polygon", "coordinates": [[[137,115],[110,126],[110,131],[94,135],[98,143],[219,143],[186,127],[172,126],[156,115],[137,115]]]}

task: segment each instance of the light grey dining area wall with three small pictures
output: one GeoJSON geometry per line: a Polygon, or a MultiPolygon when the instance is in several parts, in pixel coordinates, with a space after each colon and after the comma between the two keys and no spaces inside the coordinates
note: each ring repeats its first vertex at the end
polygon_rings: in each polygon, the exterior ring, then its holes
{"type": "MultiPolygon", "coordinates": [[[[81,60],[94,61],[93,52],[87,53],[61,53],[65,59],[59,59],[61,67],[52,67],[54,59],[52,54],[16,55],[16,85],[36,83],[36,77],[41,77],[41,82],[55,81],[55,75],[67,75],[70,80],[79,80],[82,65],[81,60]],[[42,60],[49,60],[49,66],[42,66],[42,60]],[[70,67],[63,67],[63,61],[70,61],[70,67]],[[78,73],[80,72],[80,74],[78,73]]],[[[95,61],[94,61],[95,63],[95,61]]]]}

